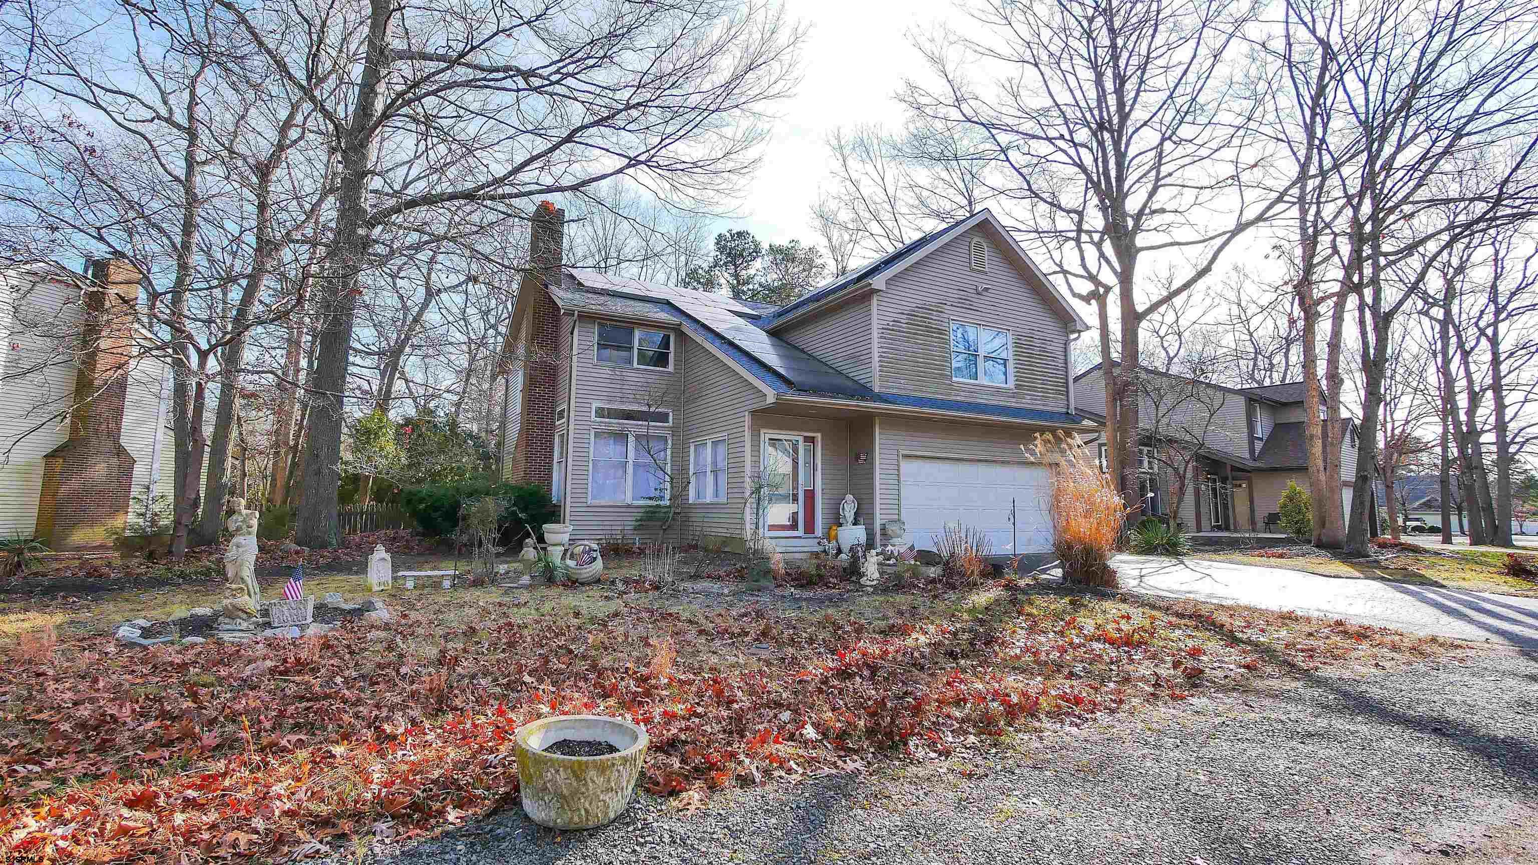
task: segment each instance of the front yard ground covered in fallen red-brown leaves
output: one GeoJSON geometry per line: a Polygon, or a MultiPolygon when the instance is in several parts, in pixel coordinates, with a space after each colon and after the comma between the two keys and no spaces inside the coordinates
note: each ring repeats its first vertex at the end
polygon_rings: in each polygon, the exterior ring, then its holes
{"type": "Polygon", "coordinates": [[[91,637],[8,663],[0,859],[275,859],[381,820],[432,831],[515,807],[514,731],[552,713],[643,723],[644,787],[698,796],[1183,700],[1278,659],[1435,645],[1020,586],[874,619],[574,603],[514,622],[509,608],[431,639],[403,613],[372,633],[145,651],[91,637]]]}

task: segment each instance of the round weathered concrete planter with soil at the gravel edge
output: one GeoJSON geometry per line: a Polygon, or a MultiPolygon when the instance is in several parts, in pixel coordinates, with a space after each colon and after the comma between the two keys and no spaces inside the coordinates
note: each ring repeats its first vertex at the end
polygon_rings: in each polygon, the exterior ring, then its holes
{"type": "Polygon", "coordinates": [[[646,731],[614,717],[563,714],[518,728],[518,790],[523,813],[552,830],[591,830],[618,817],[635,794],[646,759],[646,731]],[[563,757],[543,748],[563,739],[608,742],[603,757],[563,757]]]}

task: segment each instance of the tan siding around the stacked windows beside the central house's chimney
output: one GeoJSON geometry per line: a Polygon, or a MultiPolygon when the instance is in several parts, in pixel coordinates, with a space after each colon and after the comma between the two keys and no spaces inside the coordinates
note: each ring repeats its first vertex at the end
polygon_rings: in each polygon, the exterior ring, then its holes
{"type": "MultiPolygon", "coordinates": [[[[667,329],[667,328],[657,328],[667,329]]],[[[594,319],[588,316],[577,317],[577,340],[571,354],[566,354],[566,339],[571,332],[571,320],[561,322],[561,351],[563,357],[572,359],[577,374],[577,388],[574,392],[574,405],[571,408],[571,417],[566,419],[566,426],[571,429],[568,439],[568,453],[571,459],[571,473],[568,485],[568,522],[572,525],[572,537],[581,540],[594,540],[609,536],[634,537],[635,517],[644,509],[644,503],[600,503],[588,502],[588,474],[589,474],[589,459],[592,456],[592,431],[594,429],[629,429],[637,434],[666,434],[671,436],[672,445],[672,466],[671,471],[681,474],[687,471],[687,453],[684,451],[684,440],[680,434],[683,426],[683,406],[680,405],[680,386],[683,382],[683,369],[686,359],[680,351],[680,332],[671,329],[674,342],[674,368],[671,371],[654,371],[654,369],[635,369],[623,366],[600,365],[595,357],[595,328],[594,319]],[[594,403],[603,405],[618,405],[618,406],[640,406],[640,408],[655,408],[655,409],[672,409],[672,425],[644,425],[644,423],[614,423],[606,420],[595,422],[592,419],[594,403]]],[[[561,365],[561,372],[557,377],[557,392],[566,394],[566,374],[568,365],[561,365]]],[[[564,397],[563,397],[564,399],[564,397]]],[[[644,459],[644,457],[643,457],[644,459]]]]}

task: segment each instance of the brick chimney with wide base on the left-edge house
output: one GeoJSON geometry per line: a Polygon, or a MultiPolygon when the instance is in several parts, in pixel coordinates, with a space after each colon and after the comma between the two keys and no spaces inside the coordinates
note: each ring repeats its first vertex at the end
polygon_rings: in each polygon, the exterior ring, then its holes
{"type": "Polygon", "coordinates": [[[141,279],[122,259],[91,262],[94,285],[82,292],[69,440],[43,457],[37,534],[51,549],[102,546],[125,528],[134,457],[123,446],[123,409],[141,279]]]}

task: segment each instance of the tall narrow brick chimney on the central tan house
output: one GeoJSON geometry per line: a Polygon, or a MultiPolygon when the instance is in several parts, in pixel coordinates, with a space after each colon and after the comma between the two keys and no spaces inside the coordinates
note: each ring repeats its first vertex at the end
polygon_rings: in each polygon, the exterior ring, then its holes
{"type": "Polygon", "coordinates": [[[540,202],[529,219],[529,272],[518,291],[532,292],[520,349],[523,352],[523,402],[518,442],[512,448],[509,477],[514,483],[538,483],[551,489],[555,468],[555,408],[566,394],[555,392],[560,357],[561,311],[544,291],[561,285],[566,211],[540,202]]]}

